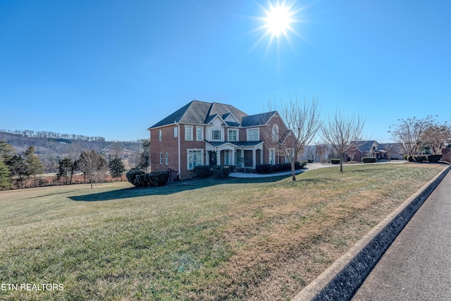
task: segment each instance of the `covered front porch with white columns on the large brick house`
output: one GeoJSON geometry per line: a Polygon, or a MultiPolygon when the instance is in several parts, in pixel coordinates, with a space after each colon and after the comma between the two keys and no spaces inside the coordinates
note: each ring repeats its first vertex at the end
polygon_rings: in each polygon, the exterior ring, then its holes
{"type": "Polygon", "coordinates": [[[233,165],[255,169],[263,164],[263,142],[206,142],[205,165],[233,165]]]}

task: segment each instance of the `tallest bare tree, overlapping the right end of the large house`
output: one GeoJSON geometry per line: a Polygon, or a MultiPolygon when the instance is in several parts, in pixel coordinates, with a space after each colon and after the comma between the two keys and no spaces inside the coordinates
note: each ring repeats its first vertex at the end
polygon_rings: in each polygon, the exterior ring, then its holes
{"type": "MultiPolygon", "coordinates": [[[[266,145],[273,148],[279,155],[285,156],[291,165],[292,180],[296,180],[295,162],[298,155],[304,152],[305,147],[313,142],[316,133],[321,128],[320,108],[316,99],[304,99],[298,102],[297,97],[290,102],[280,102],[278,114],[284,121],[287,130],[282,135],[276,133],[275,128],[262,131],[266,145]],[[266,137],[265,137],[266,136],[266,137]]],[[[274,111],[271,103],[269,111],[274,111]]],[[[277,106],[274,106],[277,107],[277,106]]]]}

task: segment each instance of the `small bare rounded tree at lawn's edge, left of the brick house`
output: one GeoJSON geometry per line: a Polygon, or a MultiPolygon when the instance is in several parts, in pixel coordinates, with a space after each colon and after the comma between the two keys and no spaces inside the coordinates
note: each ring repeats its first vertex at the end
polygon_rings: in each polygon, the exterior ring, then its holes
{"type": "Polygon", "coordinates": [[[94,149],[83,151],[78,157],[77,166],[89,178],[91,188],[92,183],[101,180],[101,177],[105,176],[108,170],[106,160],[101,154],[97,154],[94,149]]]}

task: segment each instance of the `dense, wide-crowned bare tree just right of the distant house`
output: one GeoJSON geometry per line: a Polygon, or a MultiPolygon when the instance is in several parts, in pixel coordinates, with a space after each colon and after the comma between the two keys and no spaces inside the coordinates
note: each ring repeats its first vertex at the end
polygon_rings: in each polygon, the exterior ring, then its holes
{"type": "Polygon", "coordinates": [[[424,144],[424,132],[427,128],[425,119],[398,119],[399,124],[391,125],[388,133],[396,142],[400,143],[404,154],[414,155],[424,144]]]}

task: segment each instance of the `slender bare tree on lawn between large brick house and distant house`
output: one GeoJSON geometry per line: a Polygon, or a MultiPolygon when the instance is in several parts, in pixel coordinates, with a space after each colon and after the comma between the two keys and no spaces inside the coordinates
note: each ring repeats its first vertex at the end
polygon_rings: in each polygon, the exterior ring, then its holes
{"type": "Polygon", "coordinates": [[[360,140],[364,128],[364,119],[357,115],[335,111],[333,117],[328,116],[321,126],[321,136],[340,156],[340,171],[343,171],[343,159],[352,142],[360,140]]]}

